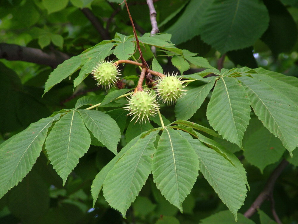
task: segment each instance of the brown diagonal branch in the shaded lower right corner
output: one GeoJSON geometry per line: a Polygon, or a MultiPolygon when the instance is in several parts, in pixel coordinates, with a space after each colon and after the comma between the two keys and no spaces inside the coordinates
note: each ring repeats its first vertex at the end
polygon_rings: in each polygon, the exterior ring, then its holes
{"type": "Polygon", "coordinates": [[[274,171],[271,173],[263,191],[259,194],[259,196],[256,198],[256,200],[252,203],[250,208],[244,213],[244,216],[246,218],[251,217],[258,208],[262,205],[262,203],[270,197],[270,194],[273,192],[274,184],[277,180],[277,178],[280,176],[283,169],[288,165],[288,161],[283,159],[280,164],[277,166],[277,168],[274,169],[274,171]]]}

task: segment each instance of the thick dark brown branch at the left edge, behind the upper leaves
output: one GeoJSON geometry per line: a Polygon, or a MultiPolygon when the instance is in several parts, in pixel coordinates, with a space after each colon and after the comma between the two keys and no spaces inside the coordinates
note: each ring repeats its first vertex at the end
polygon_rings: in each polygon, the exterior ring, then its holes
{"type": "Polygon", "coordinates": [[[52,68],[69,59],[70,56],[58,50],[49,53],[38,48],[22,47],[15,44],[0,43],[0,58],[9,61],[33,62],[39,65],[49,65],[52,68]]]}

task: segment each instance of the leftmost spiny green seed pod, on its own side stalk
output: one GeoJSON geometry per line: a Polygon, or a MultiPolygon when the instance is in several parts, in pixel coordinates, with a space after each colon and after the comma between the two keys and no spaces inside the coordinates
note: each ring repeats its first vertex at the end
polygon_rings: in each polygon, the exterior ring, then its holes
{"type": "Polygon", "coordinates": [[[103,85],[106,89],[115,86],[115,82],[119,80],[117,75],[120,75],[117,66],[110,61],[97,63],[91,74],[96,79],[97,85],[103,85]]]}

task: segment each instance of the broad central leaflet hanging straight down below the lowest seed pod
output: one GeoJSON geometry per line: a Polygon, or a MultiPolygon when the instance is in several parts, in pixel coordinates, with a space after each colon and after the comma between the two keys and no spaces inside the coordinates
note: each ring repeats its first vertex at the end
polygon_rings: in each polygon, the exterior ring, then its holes
{"type": "Polygon", "coordinates": [[[162,195],[182,212],[181,203],[198,176],[198,156],[177,131],[165,128],[153,157],[153,180],[162,195]]]}

